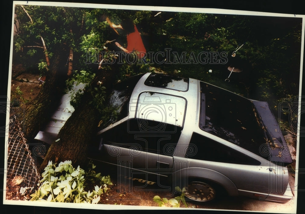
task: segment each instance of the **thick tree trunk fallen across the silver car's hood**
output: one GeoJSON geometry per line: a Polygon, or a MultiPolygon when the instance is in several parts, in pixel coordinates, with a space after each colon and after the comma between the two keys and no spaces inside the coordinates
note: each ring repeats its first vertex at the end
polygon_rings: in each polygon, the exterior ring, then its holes
{"type": "MultiPolygon", "coordinates": [[[[111,91],[115,70],[99,71],[95,80],[91,83],[91,88],[96,87],[98,82],[106,87],[107,92],[111,91]]],[[[38,171],[42,173],[49,161],[59,163],[70,160],[77,167],[83,166],[87,158],[87,147],[95,137],[95,131],[99,123],[99,113],[93,105],[90,92],[83,94],[82,104],[78,105],[70,118],[66,121],[63,128],[59,131],[55,140],[45,156],[43,163],[38,171]]]]}

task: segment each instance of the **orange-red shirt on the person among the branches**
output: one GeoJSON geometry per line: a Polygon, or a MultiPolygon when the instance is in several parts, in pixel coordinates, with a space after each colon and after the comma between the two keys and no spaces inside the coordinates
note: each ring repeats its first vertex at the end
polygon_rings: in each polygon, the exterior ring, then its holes
{"type": "Polygon", "coordinates": [[[129,53],[132,51],[140,52],[141,54],[138,55],[139,58],[145,56],[146,49],[136,26],[135,32],[127,35],[127,50],[129,51],[129,53]]]}

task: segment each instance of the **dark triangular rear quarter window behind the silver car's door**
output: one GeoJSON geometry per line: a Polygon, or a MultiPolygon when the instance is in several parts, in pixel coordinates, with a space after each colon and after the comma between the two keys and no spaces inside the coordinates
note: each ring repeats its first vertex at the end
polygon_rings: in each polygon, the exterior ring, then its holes
{"type": "Polygon", "coordinates": [[[260,161],[195,132],[192,134],[188,150],[193,151],[192,153],[187,153],[187,157],[192,159],[231,164],[260,165],[260,161]]]}

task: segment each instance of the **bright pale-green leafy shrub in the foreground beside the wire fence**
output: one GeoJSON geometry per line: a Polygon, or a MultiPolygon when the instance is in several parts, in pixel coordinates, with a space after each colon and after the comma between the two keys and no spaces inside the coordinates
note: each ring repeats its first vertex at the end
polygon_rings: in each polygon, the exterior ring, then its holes
{"type": "Polygon", "coordinates": [[[95,166],[85,172],[79,166],[75,169],[71,161],[60,162],[58,166],[49,161],[45,171],[41,174],[40,186],[31,195],[31,201],[48,202],[74,202],[96,204],[100,195],[106,193],[107,185],[112,185],[109,175],[101,176],[95,173],[95,166]],[[99,181],[100,186],[95,185],[94,190],[85,191],[86,185],[99,181]]]}

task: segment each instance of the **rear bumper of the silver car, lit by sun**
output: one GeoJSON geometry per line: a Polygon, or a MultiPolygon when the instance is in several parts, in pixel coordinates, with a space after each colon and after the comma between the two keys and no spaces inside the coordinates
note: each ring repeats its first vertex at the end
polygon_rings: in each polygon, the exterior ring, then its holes
{"type": "Polygon", "coordinates": [[[287,189],[283,195],[277,195],[277,194],[265,194],[261,192],[252,192],[252,191],[246,191],[246,190],[238,190],[239,195],[246,196],[250,198],[256,198],[261,201],[270,201],[270,202],[277,202],[277,203],[286,203],[290,201],[293,198],[293,194],[291,191],[291,187],[288,184],[287,189]]]}

